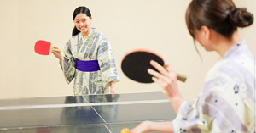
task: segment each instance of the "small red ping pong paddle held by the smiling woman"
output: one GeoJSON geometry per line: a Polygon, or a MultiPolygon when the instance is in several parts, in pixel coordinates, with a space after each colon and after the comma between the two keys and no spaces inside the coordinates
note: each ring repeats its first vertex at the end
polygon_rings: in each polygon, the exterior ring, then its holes
{"type": "MultiPolygon", "coordinates": [[[[44,41],[44,40],[38,40],[35,44],[35,52],[41,55],[49,55],[49,52],[51,50],[51,43],[44,41]]],[[[57,52],[61,52],[61,50],[54,49],[57,52]]]]}

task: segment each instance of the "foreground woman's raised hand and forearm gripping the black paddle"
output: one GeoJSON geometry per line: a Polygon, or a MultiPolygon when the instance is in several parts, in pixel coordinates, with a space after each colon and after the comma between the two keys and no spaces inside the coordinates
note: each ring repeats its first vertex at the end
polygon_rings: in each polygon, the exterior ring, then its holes
{"type": "Polygon", "coordinates": [[[154,80],[154,82],[158,83],[160,86],[162,86],[162,88],[164,88],[166,91],[166,97],[170,99],[172,106],[177,113],[179,106],[184,101],[177,88],[177,74],[175,73],[174,69],[168,65],[163,67],[153,60],[150,61],[150,64],[159,72],[153,69],[148,69],[148,73],[153,75],[152,80],[154,80]]]}

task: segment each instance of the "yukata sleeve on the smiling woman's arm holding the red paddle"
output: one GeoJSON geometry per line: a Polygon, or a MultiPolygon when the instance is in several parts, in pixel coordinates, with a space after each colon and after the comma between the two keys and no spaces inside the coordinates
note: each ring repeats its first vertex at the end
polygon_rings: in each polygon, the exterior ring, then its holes
{"type": "Polygon", "coordinates": [[[62,62],[60,62],[60,64],[65,76],[65,80],[69,84],[73,80],[76,71],[76,59],[73,58],[70,40],[66,43],[66,46],[64,47],[64,56],[62,57],[62,62]]]}

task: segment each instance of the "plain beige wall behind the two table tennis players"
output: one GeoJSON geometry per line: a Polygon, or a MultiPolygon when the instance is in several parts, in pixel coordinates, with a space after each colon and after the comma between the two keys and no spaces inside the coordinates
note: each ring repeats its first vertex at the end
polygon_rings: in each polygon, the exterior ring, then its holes
{"type": "MultiPolygon", "coordinates": [[[[256,16],[255,0],[236,0],[256,16]]],[[[184,97],[197,97],[207,70],[218,59],[200,46],[201,62],[184,22],[188,0],[1,0],[0,1],[0,99],[72,95],[58,60],[40,56],[34,43],[47,40],[62,48],[71,37],[73,10],[90,8],[93,26],[108,36],[121,81],[117,92],[162,91],[156,84],[129,80],[120,69],[124,54],[135,48],[160,53],[167,64],[188,76],[179,82],[184,97]]],[[[240,30],[241,38],[256,55],[256,25],[240,30]]]]}

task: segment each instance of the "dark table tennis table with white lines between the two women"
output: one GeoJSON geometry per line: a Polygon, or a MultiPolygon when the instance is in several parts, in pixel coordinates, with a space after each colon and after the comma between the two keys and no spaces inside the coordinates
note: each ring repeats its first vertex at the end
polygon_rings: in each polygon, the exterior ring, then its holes
{"type": "Polygon", "coordinates": [[[0,132],[6,133],[119,133],[175,117],[162,91],[0,100],[0,132]]]}

